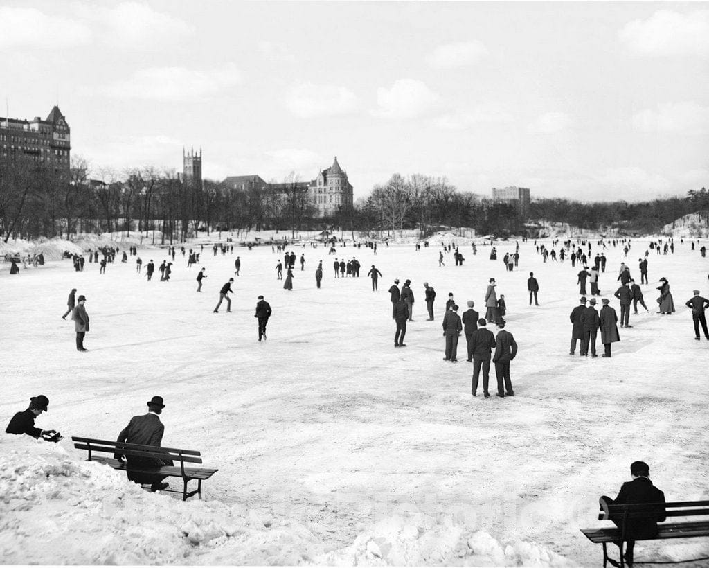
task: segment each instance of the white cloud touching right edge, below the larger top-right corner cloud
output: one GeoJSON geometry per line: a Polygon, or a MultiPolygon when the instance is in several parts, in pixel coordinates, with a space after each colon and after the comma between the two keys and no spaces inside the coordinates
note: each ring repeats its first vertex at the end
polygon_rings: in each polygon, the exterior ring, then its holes
{"type": "Polygon", "coordinates": [[[632,126],[643,132],[702,134],[709,128],[709,107],[693,101],[659,104],[635,113],[632,126]]]}

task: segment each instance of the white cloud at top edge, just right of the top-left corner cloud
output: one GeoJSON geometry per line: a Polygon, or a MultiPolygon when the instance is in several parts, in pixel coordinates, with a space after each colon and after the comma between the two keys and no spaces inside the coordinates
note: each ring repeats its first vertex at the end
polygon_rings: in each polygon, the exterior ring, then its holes
{"type": "Polygon", "coordinates": [[[78,10],[103,28],[101,39],[121,50],[164,48],[179,43],[193,28],[147,4],[123,2],[111,8],[97,9],[94,4],[80,5],[78,10]]]}

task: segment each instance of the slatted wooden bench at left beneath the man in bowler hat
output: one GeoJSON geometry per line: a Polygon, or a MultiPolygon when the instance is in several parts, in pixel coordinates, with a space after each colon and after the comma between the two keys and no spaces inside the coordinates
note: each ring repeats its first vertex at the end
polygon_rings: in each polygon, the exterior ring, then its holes
{"type": "MultiPolygon", "coordinates": [[[[194,450],[179,450],[173,447],[156,447],[145,446],[140,444],[127,444],[125,442],[111,442],[108,440],[94,440],[93,438],[77,438],[72,436],[75,442],[74,447],[77,450],[88,450],[89,457],[87,462],[99,462],[101,464],[110,465],[113,469],[120,469],[123,472],[133,472],[141,474],[160,474],[167,477],[182,477],[184,489],[182,490],[182,501],[186,501],[188,497],[199,495],[202,498],[202,480],[209,479],[218,469],[209,469],[206,467],[185,467],[185,464],[201,464],[202,458],[200,453],[194,450]],[[103,452],[111,456],[94,455],[94,452],[103,452]],[[179,465],[164,465],[160,468],[148,467],[130,467],[125,462],[119,462],[113,458],[113,455],[119,452],[124,456],[132,457],[150,457],[158,460],[172,460],[179,462],[179,465]],[[187,482],[191,479],[196,479],[197,489],[187,491],[187,482]]],[[[172,493],[180,493],[181,491],[172,491],[172,493]]]]}

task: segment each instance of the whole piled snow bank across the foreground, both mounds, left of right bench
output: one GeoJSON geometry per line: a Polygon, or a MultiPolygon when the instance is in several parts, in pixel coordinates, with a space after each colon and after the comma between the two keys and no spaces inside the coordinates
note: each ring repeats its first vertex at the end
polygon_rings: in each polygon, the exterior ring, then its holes
{"type": "Polygon", "coordinates": [[[349,547],[325,552],[332,545],[297,520],[150,494],[121,472],[28,436],[0,435],[0,508],[4,564],[571,565],[527,542],[503,547],[444,515],[386,518],[349,547]]]}

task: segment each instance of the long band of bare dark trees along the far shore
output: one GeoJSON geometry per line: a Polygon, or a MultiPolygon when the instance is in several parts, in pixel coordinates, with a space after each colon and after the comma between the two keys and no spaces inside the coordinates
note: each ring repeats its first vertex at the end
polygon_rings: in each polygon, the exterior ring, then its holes
{"type": "Polygon", "coordinates": [[[377,184],[353,208],[342,207],[330,218],[315,208],[291,172],[278,191],[236,189],[205,180],[192,184],[173,170],[155,167],[89,171],[74,157],[72,167],[54,170],[31,159],[0,161],[0,229],[11,237],[71,238],[77,233],[155,231],[172,243],[199,230],[296,230],[339,228],[368,233],[440,228],[473,228],[480,235],[515,235],[537,230],[539,223],[566,223],[581,230],[627,230],[657,233],[676,218],[698,212],[709,227],[709,194],[690,190],[685,198],[641,203],[581,203],[537,199],[529,211],[458,191],[445,177],[393,174],[377,184]]]}

